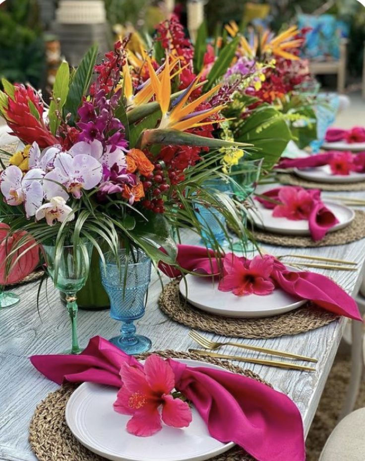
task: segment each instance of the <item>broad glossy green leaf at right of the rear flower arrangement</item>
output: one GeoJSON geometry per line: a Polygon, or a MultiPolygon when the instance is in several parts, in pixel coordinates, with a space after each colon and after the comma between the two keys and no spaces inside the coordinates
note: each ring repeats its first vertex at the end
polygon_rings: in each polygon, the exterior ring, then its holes
{"type": "Polygon", "coordinates": [[[235,140],[252,143],[257,149],[250,158],[263,158],[263,169],[270,170],[292,139],[283,115],[270,106],[262,106],[250,115],[235,133],[235,140]]]}

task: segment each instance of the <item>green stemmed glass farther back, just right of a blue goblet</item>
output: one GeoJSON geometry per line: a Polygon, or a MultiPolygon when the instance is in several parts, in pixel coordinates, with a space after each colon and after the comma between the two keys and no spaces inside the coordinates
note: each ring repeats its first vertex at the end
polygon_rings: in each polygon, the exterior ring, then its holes
{"type": "MultiPolygon", "coordinates": [[[[232,190],[239,201],[247,200],[256,189],[261,173],[263,159],[245,160],[244,158],[238,165],[232,167],[231,178],[232,190]]],[[[247,227],[247,216],[243,214],[243,225],[247,227]]],[[[241,253],[250,253],[256,250],[253,243],[244,235],[240,242],[233,244],[233,250],[241,253]]]]}

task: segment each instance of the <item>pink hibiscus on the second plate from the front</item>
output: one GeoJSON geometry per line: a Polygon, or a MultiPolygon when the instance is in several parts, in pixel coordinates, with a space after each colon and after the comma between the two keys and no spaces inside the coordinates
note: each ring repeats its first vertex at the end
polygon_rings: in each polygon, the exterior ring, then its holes
{"type": "Polygon", "coordinates": [[[224,275],[218,289],[232,291],[237,296],[251,293],[267,295],[275,289],[270,278],[273,266],[272,256],[255,256],[250,261],[230,253],[223,260],[224,275]]]}

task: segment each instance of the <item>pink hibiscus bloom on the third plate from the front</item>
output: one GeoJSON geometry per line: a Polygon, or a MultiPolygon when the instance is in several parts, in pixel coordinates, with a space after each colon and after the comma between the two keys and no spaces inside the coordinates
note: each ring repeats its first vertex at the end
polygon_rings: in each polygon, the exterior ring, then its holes
{"type": "Polygon", "coordinates": [[[308,219],[313,208],[313,197],[305,189],[282,187],[278,193],[278,200],[282,203],[276,205],[272,215],[285,217],[293,221],[308,219]]]}

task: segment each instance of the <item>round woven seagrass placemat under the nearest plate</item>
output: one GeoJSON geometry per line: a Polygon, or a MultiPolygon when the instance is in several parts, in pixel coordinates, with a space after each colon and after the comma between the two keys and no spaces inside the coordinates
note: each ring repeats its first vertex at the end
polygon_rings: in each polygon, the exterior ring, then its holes
{"type": "MultiPolygon", "coordinates": [[[[266,383],[258,375],[250,370],[243,370],[227,361],[202,357],[188,352],[176,352],[173,350],[155,351],[162,357],[172,357],[176,359],[192,359],[201,362],[209,362],[220,365],[233,373],[252,378],[260,383],[266,383]]],[[[150,355],[142,354],[138,358],[146,358],[150,355]]],[[[77,384],[67,384],[58,391],[52,392],[37,405],[29,427],[29,442],[31,448],[39,461],[103,461],[102,458],[90,452],[81,445],[71,431],[68,429],[65,420],[65,407],[67,400],[72,392],[77,388],[77,384]]],[[[222,455],[212,458],[211,461],[254,461],[241,448],[235,447],[222,455]]]]}

